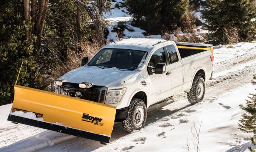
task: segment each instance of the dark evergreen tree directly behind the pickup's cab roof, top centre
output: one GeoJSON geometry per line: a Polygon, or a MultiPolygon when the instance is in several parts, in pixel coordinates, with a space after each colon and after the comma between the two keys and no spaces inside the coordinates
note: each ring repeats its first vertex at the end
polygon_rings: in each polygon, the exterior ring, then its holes
{"type": "Polygon", "coordinates": [[[188,0],[127,0],[125,6],[135,24],[151,34],[194,24],[187,13],[188,0]]]}

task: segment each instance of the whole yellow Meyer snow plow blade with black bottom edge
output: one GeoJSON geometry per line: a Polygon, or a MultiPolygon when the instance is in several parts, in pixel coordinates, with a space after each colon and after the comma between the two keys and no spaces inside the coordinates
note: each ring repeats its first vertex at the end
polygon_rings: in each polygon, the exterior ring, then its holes
{"type": "Polygon", "coordinates": [[[115,112],[114,106],[15,85],[7,120],[108,143],[115,112]]]}

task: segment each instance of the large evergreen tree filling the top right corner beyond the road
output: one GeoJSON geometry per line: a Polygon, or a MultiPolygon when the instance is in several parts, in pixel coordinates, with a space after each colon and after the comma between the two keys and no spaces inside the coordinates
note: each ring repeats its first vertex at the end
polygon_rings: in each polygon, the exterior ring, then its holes
{"type": "Polygon", "coordinates": [[[214,43],[247,42],[256,38],[255,0],[206,0],[201,13],[214,43]]]}

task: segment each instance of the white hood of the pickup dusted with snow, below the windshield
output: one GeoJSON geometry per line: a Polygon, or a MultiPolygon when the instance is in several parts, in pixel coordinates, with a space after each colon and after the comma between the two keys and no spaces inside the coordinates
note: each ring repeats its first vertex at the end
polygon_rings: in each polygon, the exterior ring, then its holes
{"type": "Polygon", "coordinates": [[[66,73],[59,79],[65,79],[70,83],[90,82],[96,86],[115,89],[123,81],[139,75],[139,71],[119,70],[115,67],[101,69],[97,66],[82,66],[66,73]]]}

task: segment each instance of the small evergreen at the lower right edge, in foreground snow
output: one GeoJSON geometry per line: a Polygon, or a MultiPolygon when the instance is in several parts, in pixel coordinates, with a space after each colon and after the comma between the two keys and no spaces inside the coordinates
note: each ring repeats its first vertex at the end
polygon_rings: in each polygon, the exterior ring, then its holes
{"type": "MultiPolygon", "coordinates": [[[[254,78],[256,79],[256,75],[254,75],[254,78]]],[[[252,81],[253,85],[256,85],[256,81],[252,81]]],[[[255,89],[256,90],[256,89],[255,89]]],[[[242,118],[239,120],[239,129],[242,132],[252,132],[254,137],[251,137],[252,145],[256,145],[256,93],[255,94],[249,94],[249,100],[246,100],[246,106],[239,105],[241,109],[245,111],[245,113],[242,115],[242,118]]],[[[251,147],[249,147],[249,150],[251,152],[255,152],[251,147]]]]}

